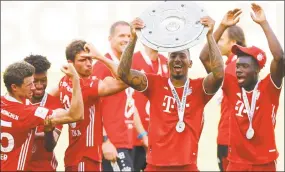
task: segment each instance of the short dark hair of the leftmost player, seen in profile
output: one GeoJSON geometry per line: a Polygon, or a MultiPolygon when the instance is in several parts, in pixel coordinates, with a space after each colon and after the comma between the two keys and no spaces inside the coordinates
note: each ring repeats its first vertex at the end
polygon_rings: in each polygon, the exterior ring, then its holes
{"type": "Polygon", "coordinates": [[[9,92],[12,91],[11,85],[15,84],[17,86],[21,86],[26,77],[33,76],[35,73],[35,68],[31,64],[20,61],[9,65],[4,74],[4,83],[9,92]]]}

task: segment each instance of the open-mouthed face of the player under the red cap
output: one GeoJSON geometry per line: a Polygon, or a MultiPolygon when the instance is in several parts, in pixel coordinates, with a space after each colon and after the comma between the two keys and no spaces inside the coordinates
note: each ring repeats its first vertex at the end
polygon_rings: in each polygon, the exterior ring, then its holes
{"type": "Polygon", "coordinates": [[[239,56],[236,62],[236,76],[241,87],[248,88],[257,79],[259,67],[251,56],[239,56]]]}

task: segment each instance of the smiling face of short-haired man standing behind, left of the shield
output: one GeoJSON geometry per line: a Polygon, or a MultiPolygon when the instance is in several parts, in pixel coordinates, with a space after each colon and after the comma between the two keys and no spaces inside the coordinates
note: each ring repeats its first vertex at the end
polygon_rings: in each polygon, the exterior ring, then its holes
{"type": "Polygon", "coordinates": [[[131,28],[127,25],[118,25],[114,34],[109,36],[111,48],[121,54],[127,47],[131,38],[131,28]]]}

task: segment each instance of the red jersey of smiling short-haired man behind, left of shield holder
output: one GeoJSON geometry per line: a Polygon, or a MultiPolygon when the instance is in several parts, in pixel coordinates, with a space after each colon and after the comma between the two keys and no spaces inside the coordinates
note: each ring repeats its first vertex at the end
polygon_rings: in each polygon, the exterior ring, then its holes
{"type": "MultiPolygon", "coordinates": [[[[110,54],[107,58],[119,62],[119,60],[110,54]]],[[[93,75],[101,80],[107,76],[112,76],[111,71],[100,61],[97,61],[93,67],[93,75]]],[[[110,141],[116,148],[132,148],[132,130],[134,114],[134,100],[132,94],[134,89],[127,88],[117,94],[102,97],[100,102],[100,111],[103,116],[103,123],[110,141]]]]}

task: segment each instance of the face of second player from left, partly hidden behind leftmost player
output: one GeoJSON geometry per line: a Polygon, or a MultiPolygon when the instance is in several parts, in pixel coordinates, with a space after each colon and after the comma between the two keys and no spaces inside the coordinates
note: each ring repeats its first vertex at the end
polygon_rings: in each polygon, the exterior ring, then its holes
{"type": "Polygon", "coordinates": [[[34,85],[33,98],[41,99],[47,87],[47,72],[34,74],[34,85]]]}

